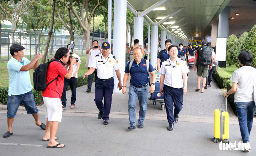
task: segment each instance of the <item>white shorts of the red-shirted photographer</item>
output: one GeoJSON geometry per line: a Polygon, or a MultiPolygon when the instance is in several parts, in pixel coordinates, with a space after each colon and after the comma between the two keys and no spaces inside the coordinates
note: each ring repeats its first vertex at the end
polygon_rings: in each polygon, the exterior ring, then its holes
{"type": "Polygon", "coordinates": [[[45,103],[45,117],[48,121],[61,122],[62,119],[62,104],[59,98],[47,98],[43,97],[45,103]]]}

